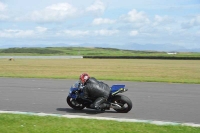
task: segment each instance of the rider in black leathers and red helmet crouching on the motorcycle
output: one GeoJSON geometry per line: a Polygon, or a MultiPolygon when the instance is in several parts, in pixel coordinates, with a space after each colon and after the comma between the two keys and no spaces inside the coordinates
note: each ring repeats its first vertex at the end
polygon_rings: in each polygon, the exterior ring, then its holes
{"type": "Polygon", "coordinates": [[[110,94],[110,87],[107,84],[98,81],[94,77],[90,77],[87,73],[80,75],[80,81],[84,85],[83,95],[80,97],[94,100],[90,108],[98,110],[110,108],[110,104],[105,103],[110,94]]]}

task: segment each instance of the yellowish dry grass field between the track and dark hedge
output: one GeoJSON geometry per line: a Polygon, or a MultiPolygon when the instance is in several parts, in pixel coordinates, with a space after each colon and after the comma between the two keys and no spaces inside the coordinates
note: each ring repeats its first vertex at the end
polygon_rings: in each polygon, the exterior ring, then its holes
{"type": "Polygon", "coordinates": [[[200,83],[199,60],[0,59],[0,77],[78,79],[82,72],[100,80],[200,83]]]}

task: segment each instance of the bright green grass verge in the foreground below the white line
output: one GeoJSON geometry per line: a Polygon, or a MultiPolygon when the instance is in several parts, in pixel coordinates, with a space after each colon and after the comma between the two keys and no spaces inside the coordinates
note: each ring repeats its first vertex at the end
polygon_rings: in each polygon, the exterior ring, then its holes
{"type": "Polygon", "coordinates": [[[188,126],[0,114],[1,133],[199,133],[188,126]]]}

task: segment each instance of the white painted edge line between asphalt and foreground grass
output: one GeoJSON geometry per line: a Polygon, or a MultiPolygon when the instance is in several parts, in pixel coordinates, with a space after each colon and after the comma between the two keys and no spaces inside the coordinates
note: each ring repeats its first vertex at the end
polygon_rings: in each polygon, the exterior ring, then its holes
{"type": "Polygon", "coordinates": [[[200,127],[200,124],[195,123],[178,123],[178,122],[166,122],[166,121],[155,121],[155,120],[139,120],[139,119],[125,119],[125,118],[109,118],[109,117],[92,117],[92,116],[81,116],[81,115],[61,115],[61,114],[48,114],[48,113],[34,113],[34,112],[20,112],[20,111],[1,111],[0,114],[23,114],[23,115],[36,115],[36,116],[57,116],[65,118],[84,118],[84,119],[98,119],[98,120],[113,120],[119,122],[138,122],[138,123],[149,123],[155,125],[179,125],[179,126],[190,126],[200,127]]]}

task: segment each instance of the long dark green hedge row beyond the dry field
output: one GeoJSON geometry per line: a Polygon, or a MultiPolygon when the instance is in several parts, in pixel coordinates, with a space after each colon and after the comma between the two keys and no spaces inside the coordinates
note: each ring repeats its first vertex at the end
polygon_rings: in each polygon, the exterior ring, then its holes
{"type": "Polygon", "coordinates": [[[177,56],[83,56],[92,59],[170,59],[170,60],[200,60],[200,57],[177,56]]]}

